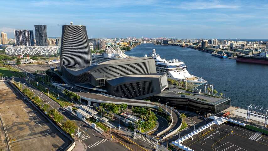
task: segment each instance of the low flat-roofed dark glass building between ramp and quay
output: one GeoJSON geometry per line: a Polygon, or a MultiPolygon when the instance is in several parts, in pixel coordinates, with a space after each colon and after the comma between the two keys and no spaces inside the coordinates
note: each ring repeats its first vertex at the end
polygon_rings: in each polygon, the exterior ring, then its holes
{"type": "Polygon", "coordinates": [[[165,104],[169,102],[169,106],[176,106],[176,109],[198,112],[200,114],[208,116],[209,114],[217,115],[224,109],[228,109],[231,105],[230,98],[222,98],[216,101],[202,101],[195,98],[188,98],[184,94],[174,95],[174,94],[158,94],[152,98],[165,104]]]}

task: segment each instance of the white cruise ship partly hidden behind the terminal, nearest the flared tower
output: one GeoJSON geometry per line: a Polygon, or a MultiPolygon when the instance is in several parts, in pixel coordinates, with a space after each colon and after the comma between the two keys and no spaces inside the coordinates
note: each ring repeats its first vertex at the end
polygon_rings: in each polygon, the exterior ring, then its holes
{"type": "Polygon", "coordinates": [[[104,53],[96,53],[91,55],[91,64],[96,65],[105,61],[114,59],[127,59],[127,58],[138,58],[134,56],[128,56],[121,51],[120,48],[113,49],[112,47],[106,48],[104,53]]]}

